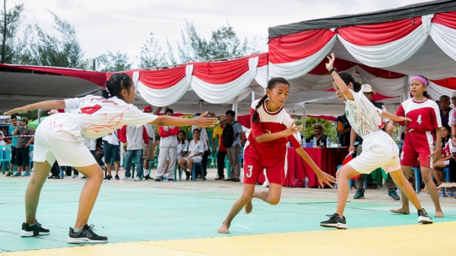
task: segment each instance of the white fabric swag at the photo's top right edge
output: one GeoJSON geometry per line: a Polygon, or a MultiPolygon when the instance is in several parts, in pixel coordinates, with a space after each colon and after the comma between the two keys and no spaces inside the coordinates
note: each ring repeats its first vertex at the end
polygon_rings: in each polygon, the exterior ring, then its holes
{"type": "Polygon", "coordinates": [[[456,60],[456,29],[440,24],[431,24],[431,38],[446,55],[456,60]]]}

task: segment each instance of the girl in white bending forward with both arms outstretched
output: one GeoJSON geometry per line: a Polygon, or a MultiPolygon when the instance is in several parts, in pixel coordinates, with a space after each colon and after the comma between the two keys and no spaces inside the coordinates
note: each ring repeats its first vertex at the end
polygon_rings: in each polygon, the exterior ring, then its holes
{"type": "Polygon", "coordinates": [[[197,119],[155,116],[143,113],[132,105],[135,97],[134,84],[128,75],[117,73],[106,81],[104,97],[88,95],[84,98],[58,101],[42,101],[18,107],[5,114],[25,113],[38,109],[67,109],[67,113],[53,114],[38,126],[35,133],[34,175],[25,192],[25,222],[21,236],[48,235],[49,229],[36,221],[36,208],[40,192],[53,163],[58,160],[62,166],[73,166],[87,177],[82,188],[77,218],[70,227],[68,242],[101,243],[108,238],[93,232],[88,226],[88,217],[97,199],[103,171],[88,150],[84,139],[95,139],[112,133],[123,125],[198,125],[213,127],[216,118],[197,119]]]}

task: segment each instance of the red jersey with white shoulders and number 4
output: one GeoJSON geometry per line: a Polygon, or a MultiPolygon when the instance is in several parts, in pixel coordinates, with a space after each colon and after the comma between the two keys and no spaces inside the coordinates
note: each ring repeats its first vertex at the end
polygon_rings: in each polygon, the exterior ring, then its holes
{"type": "MultiPolygon", "coordinates": [[[[430,99],[424,99],[424,101],[407,99],[400,104],[396,116],[406,116],[411,119],[411,122],[407,121],[408,131],[426,132],[442,127],[439,106],[430,99]]],[[[404,125],[404,122],[398,123],[404,125]]]]}

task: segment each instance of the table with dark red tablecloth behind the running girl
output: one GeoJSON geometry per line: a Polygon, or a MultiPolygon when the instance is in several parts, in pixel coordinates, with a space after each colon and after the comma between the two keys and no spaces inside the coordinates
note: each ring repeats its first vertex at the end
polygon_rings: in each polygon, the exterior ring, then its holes
{"type": "MultiPolygon", "coordinates": [[[[348,148],[304,148],[304,151],[309,154],[311,159],[319,166],[324,172],[329,173],[335,177],[337,166],[344,161],[348,155],[348,148]]],[[[288,148],[287,152],[287,176],[283,185],[286,187],[303,187],[304,179],[309,178],[309,187],[317,187],[317,175],[311,167],[304,162],[304,159],[293,148],[288,148]]],[[[258,178],[259,183],[263,183],[265,177],[261,174],[258,178]]]]}

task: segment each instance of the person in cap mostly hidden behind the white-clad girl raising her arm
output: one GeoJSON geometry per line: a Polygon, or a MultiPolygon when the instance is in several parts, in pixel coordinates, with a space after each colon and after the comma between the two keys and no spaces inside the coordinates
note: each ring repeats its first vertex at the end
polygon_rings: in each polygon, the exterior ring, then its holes
{"type": "MultiPolygon", "coordinates": [[[[376,92],[374,90],[372,90],[372,86],[370,86],[369,84],[363,84],[361,86],[361,92],[363,92],[364,96],[366,98],[368,98],[368,100],[370,102],[372,102],[372,104],[374,104],[374,106],[376,108],[379,108],[382,110],[382,112],[387,112],[386,110],[386,107],[385,105],[382,103],[382,102],[375,102],[375,101],[372,101],[372,97],[374,97],[374,94],[376,94],[376,92]]],[[[389,122],[389,119],[388,118],[382,118],[382,121],[383,121],[383,131],[385,131],[385,127],[388,125],[388,122],[389,122]]],[[[357,153],[359,153],[358,155],[361,154],[361,147],[362,147],[362,141],[359,145],[359,151],[357,151],[357,153]]],[[[350,147],[350,149],[352,149],[350,147]]],[[[353,149],[352,149],[353,150],[353,149]]],[[[375,171],[377,172],[381,172],[380,168],[377,169],[377,170],[374,170],[372,171],[371,173],[374,173],[375,171]]],[[[355,195],[353,196],[353,199],[364,199],[364,179],[365,179],[365,174],[361,174],[359,175],[359,178],[356,179],[356,188],[357,188],[357,192],[355,193],[355,195]]],[[[389,175],[389,173],[387,174],[387,179],[385,180],[385,184],[386,184],[386,187],[388,188],[388,196],[391,198],[391,199],[394,199],[394,200],[400,200],[400,197],[398,196],[398,193],[396,192],[396,184],[394,183],[391,175],[389,175]]]]}

